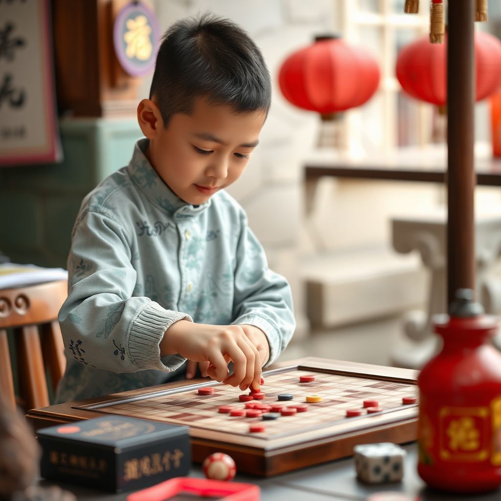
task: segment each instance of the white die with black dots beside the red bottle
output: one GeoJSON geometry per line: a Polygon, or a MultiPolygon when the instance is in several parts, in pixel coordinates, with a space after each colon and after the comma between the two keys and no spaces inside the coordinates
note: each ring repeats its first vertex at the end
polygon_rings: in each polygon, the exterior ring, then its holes
{"type": "Polygon", "coordinates": [[[406,450],[390,442],[355,445],[357,476],[366,483],[398,482],[404,474],[406,450]]]}

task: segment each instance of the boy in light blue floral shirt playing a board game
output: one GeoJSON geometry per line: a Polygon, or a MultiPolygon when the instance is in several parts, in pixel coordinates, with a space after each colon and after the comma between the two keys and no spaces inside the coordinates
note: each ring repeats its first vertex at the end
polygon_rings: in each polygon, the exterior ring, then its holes
{"type": "Polygon", "coordinates": [[[197,365],[259,388],[292,337],[291,292],[222,188],[243,172],[270,104],[263,56],[232,22],[167,31],[138,106],[146,139],[75,223],[58,401],[190,379],[197,365]]]}

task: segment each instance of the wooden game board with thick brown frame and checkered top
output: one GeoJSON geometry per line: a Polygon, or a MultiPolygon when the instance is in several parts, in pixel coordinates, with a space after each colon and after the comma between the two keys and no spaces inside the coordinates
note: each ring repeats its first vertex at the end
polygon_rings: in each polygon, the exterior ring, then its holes
{"type": "Polygon", "coordinates": [[[416,438],[418,404],[402,404],[404,396],[417,397],[415,371],[314,360],[319,362],[264,372],[266,396],[260,402],[276,403],[282,393],[294,395],[293,401],[281,402],[286,406],[304,403],[312,393],[321,394],[322,401],[309,403],[307,412],[266,421],[261,433],[249,432],[249,424],[261,422],[261,417],[218,412],[221,405],[243,409],[245,404],[238,401],[238,395],[247,392],[214,381],[155,392],[145,389],[129,398],[78,408],[188,425],[195,461],[221,451],[233,457],[239,471],[261,475],[351,455],[358,443],[403,443],[416,438]],[[300,383],[299,377],[307,374],[315,375],[315,381],[300,383]],[[215,391],[199,395],[198,389],[203,387],[215,391]],[[383,410],[345,417],[347,409],[363,407],[366,399],[378,400],[383,410]]]}

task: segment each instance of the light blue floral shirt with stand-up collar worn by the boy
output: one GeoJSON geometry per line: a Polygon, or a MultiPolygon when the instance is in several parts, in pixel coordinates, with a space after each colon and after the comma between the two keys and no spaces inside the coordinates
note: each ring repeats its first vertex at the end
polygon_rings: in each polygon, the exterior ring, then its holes
{"type": "Polygon", "coordinates": [[[59,322],[68,361],[56,400],[68,402],[179,378],[160,358],[174,322],[259,327],[273,362],[294,328],[291,290],[267,265],[245,212],[225,191],[203,205],[178,198],[136,143],[130,164],[89,193],[68,258],[59,322]]]}

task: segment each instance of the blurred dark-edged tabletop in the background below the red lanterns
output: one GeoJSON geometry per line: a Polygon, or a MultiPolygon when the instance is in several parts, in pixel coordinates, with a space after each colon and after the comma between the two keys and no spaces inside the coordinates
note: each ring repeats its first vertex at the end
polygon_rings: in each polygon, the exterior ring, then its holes
{"type": "MultiPolygon", "coordinates": [[[[443,183],[447,151],[444,145],[433,145],[357,157],[319,150],[306,159],[305,165],[307,179],[334,176],[443,183]]],[[[501,186],[501,158],[493,158],[485,149],[477,151],[475,171],[479,185],[501,186]]]]}

